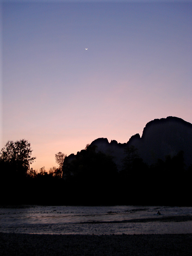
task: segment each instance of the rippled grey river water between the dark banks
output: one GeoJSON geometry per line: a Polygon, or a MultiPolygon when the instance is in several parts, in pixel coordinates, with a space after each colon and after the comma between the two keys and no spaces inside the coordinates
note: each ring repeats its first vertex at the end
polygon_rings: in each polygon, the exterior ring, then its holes
{"type": "Polygon", "coordinates": [[[188,234],[192,233],[191,216],[192,207],[34,205],[2,207],[0,232],[97,235],[188,234]],[[166,221],[160,221],[162,218],[166,218],[166,221]]]}

